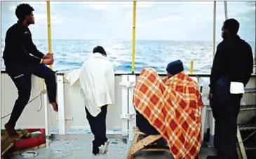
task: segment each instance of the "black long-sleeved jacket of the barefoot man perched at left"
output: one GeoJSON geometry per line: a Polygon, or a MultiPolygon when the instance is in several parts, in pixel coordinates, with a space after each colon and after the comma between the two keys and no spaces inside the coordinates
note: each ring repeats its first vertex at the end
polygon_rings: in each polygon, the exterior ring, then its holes
{"type": "Polygon", "coordinates": [[[3,59],[6,68],[13,65],[40,63],[44,56],[34,45],[29,28],[21,22],[13,24],[7,30],[5,42],[3,59]],[[34,56],[29,55],[29,53],[34,56]]]}

